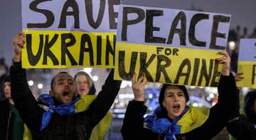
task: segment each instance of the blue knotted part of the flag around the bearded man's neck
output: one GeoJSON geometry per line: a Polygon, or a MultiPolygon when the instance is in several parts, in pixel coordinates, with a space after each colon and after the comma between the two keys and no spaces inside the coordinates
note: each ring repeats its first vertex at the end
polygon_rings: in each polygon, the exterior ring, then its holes
{"type": "Polygon", "coordinates": [[[46,103],[46,106],[49,107],[49,110],[43,113],[43,119],[40,129],[40,131],[42,131],[50,122],[53,112],[57,112],[61,116],[75,114],[75,103],[79,100],[79,98],[76,97],[75,100],[73,100],[71,103],[59,105],[58,107],[55,107],[53,105],[53,97],[48,94],[40,95],[38,100],[41,100],[43,103],[46,103]]]}

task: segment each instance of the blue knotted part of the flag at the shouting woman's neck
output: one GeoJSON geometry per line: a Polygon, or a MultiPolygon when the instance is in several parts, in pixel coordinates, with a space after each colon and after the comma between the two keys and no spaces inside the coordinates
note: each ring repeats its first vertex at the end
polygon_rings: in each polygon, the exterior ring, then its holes
{"type": "Polygon", "coordinates": [[[164,140],[174,140],[174,135],[180,134],[181,132],[181,126],[176,125],[176,123],[187,112],[187,110],[188,106],[186,105],[181,115],[176,117],[173,122],[170,122],[167,118],[157,118],[156,115],[161,113],[161,108],[157,107],[156,110],[154,110],[153,115],[146,116],[144,122],[146,122],[146,127],[152,129],[154,133],[164,134],[164,140]]]}

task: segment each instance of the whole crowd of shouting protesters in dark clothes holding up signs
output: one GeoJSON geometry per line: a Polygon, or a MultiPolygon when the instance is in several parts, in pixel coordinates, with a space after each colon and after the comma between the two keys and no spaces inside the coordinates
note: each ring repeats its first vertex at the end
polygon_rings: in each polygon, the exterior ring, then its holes
{"type": "MultiPolygon", "coordinates": [[[[244,30],[247,33],[247,30],[244,30]]],[[[26,69],[21,67],[21,49],[26,35],[19,32],[13,40],[14,56],[10,69],[0,67],[1,139],[104,139],[113,116],[109,110],[122,81],[114,80],[114,69],[101,91],[83,71],[71,76],[63,71],[53,76],[48,94],[37,99],[31,92],[26,69]],[[9,71],[9,72],[8,72],[9,71]]],[[[233,76],[228,52],[219,52],[216,62],[223,64],[218,85],[218,103],[211,108],[188,105],[185,86],[163,84],[159,107],[146,114],[145,75],[132,76],[134,100],[129,102],[122,124],[123,139],[211,139],[224,127],[235,139],[256,139],[256,91],[245,96],[245,115],[240,115],[239,89],[233,76]]]]}

